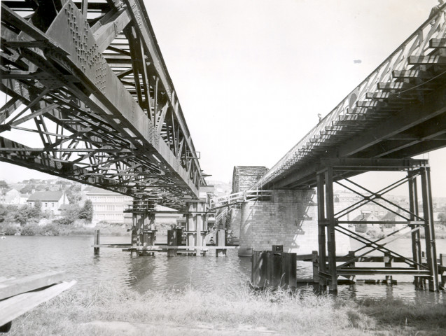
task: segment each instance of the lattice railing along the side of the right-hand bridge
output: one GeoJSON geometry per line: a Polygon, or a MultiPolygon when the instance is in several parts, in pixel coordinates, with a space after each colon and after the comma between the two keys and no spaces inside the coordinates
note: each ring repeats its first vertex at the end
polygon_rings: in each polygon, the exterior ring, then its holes
{"type": "MultiPolygon", "coordinates": [[[[357,103],[368,98],[369,92],[377,92],[379,83],[391,83],[393,71],[410,69],[412,64],[410,57],[419,57],[429,55],[429,52],[435,50],[432,45],[433,39],[445,38],[445,11],[446,3],[440,7],[438,12],[428,18],[406,41],[403,42],[392,54],[380,64],[375,71],[363,80],[347,97],[345,97],[335,109],[330,111],[323,120],[310,130],[298,144],[291,148],[283,158],[277,162],[254,186],[262,188],[267,183],[273,181],[277,176],[286,172],[309,153],[317,148],[324,141],[330,139],[337,131],[342,130],[342,123],[346,118],[359,118],[361,109],[358,109],[357,103]],[[347,117],[348,116],[348,117],[347,117]]],[[[436,40],[440,41],[440,40],[436,40]]],[[[441,42],[440,42],[441,43],[441,42]]],[[[402,86],[401,86],[402,87],[402,86]]],[[[405,92],[400,88],[400,93],[405,92]]]]}

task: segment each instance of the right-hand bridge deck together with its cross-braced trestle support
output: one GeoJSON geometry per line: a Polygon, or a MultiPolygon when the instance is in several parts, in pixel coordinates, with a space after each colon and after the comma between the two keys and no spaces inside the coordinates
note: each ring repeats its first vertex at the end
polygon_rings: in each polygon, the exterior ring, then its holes
{"type": "MultiPolygon", "coordinates": [[[[436,258],[430,167],[427,160],[411,157],[446,146],[445,10],[446,5],[424,22],[252,188],[316,187],[318,276],[322,288],[329,285],[336,291],[338,276],[351,279],[358,274],[386,274],[386,279],[392,274],[412,274],[417,287],[424,287],[428,280],[430,290],[440,288],[438,272],[446,272],[446,267],[438,265],[436,258]],[[407,176],[377,192],[349,179],[371,171],[400,171],[407,176]],[[335,213],[333,183],[355,193],[360,201],[335,213]],[[405,183],[410,209],[399,207],[384,195],[405,183]],[[420,185],[421,193],[417,191],[420,185]],[[349,230],[348,225],[386,224],[345,220],[351,211],[365,204],[377,204],[396,215],[396,225],[410,228],[412,258],[387,248],[388,237],[372,240],[349,230]],[[337,257],[336,232],[363,246],[351,255],[337,257]],[[405,267],[392,267],[391,262],[386,267],[355,267],[356,262],[375,251],[384,253],[388,262],[400,260],[405,267]]],[[[445,282],[446,276],[442,275],[442,284],[445,282]]]]}

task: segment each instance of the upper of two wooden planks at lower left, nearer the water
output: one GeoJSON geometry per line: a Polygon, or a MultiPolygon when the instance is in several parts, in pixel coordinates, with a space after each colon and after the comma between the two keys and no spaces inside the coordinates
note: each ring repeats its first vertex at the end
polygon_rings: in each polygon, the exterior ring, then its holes
{"type": "MultiPolygon", "coordinates": [[[[53,285],[64,278],[65,272],[48,271],[41,274],[25,276],[20,279],[9,279],[0,282],[0,300],[20,293],[53,285]]],[[[1,311],[1,310],[0,310],[1,311]]]]}

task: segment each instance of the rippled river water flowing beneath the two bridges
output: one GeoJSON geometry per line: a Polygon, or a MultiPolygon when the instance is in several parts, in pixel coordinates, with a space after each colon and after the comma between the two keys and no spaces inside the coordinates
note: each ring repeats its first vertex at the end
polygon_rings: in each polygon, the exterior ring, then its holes
{"type": "MultiPolygon", "coordinates": [[[[101,237],[101,244],[128,243],[130,237],[101,237]]],[[[101,248],[93,255],[92,237],[8,236],[0,239],[0,276],[18,277],[51,270],[64,270],[66,279],[78,281],[76,290],[88,290],[97,284],[146,290],[173,290],[192,287],[199,290],[228,290],[244,286],[251,278],[251,258],[239,258],[237,250],[228,250],[226,258],[216,258],[213,251],[205,257],[177,256],[166,253],[130,257],[120,248],[101,248]]],[[[410,239],[392,243],[396,251],[410,256],[410,239]]],[[[352,242],[352,247],[354,243],[352,242]]],[[[446,240],[437,240],[437,253],[446,253],[446,240]]],[[[377,254],[377,253],[376,253],[377,254]]],[[[358,265],[359,266],[359,265],[358,265]]],[[[311,278],[311,262],[298,262],[298,278],[311,278]]],[[[384,276],[381,276],[384,278],[384,276]]],[[[370,276],[367,279],[372,279],[370,276]]],[[[380,277],[378,277],[380,279],[380,277]]],[[[341,297],[398,297],[415,302],[446,303],[443,293],[415,290],[406,276],[394,286],[339,286],[341,297]],[[407,281],[407,282],[405,282],[407,281]]],[[[312,288],[302,287],[302,290],[312,288]]]]}

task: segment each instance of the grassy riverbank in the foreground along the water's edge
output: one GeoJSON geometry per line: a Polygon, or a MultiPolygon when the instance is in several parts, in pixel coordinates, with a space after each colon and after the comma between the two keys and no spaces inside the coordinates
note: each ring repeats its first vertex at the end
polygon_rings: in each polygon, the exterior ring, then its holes
{"type": "Polygon", "coordinates": [[[71,290],[13,322],[8,335],[445,335],[446,306],[311,293],[71,290]]]}

